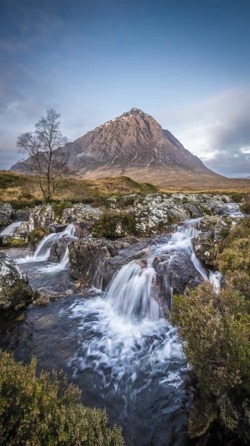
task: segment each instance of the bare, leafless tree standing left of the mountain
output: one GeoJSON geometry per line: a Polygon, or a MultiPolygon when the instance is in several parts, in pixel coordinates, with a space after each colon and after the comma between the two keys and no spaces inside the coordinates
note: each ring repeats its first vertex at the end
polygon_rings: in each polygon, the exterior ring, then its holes
{"type": "Polygon", "coordinates": [[[61,149],[67,138],[61,134],[59,118],[55,110],[47,110],[46,117],[41,117],[33,133],[23,133],[17,138],[20,152],[29,156],[22,165],[37,176],[46,202],[51,201],[61,181],[73,173],[68,167],[70,154],[61,149]]]}

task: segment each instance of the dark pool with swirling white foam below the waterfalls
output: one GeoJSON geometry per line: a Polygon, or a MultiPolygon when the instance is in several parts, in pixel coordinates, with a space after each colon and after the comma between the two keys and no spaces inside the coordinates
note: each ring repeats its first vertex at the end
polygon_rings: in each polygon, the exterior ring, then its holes
{"type": "MultiPolygon", "coordinates": [[[[15,259],[31,254],[6,252],[15,259]]],[[[41,272],[46,266],[20,265],[33,290],[68,290],[69,297],[2,320],[1,347],[25,362],[35,355],[38,371],[62,369],[86,405],[106,408],[110,422],[122,425],[127,444],[187,444],[193,389],[173,327],[163,317],[128,320],[110,296],[95,289],[81,295],[67,271],[41,272]]]]}

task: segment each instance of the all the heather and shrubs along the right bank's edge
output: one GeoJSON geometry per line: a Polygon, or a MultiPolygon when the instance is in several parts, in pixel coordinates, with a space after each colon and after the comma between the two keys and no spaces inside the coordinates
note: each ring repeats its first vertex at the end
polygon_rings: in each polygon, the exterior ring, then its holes
{"type": "Polygon", "coordinates": [[[230,439],[249,444],[250,216],[221,245],[221,290],[203,282],[174,296],[172,318],[197,378],[198,400],[204,408],[213,402],[230,439]]]}

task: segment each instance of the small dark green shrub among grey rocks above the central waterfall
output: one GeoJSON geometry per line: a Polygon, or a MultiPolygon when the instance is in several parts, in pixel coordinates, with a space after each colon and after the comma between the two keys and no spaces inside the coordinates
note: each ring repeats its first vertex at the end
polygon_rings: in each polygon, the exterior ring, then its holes
{"type": "Polygon", "coordinates": [[[105,212],[99,217],[93,227],[93,235],[95,237],[106,237],[111,240],[124,235],[135,234],[134,217],[122,212],[105,212]]]}

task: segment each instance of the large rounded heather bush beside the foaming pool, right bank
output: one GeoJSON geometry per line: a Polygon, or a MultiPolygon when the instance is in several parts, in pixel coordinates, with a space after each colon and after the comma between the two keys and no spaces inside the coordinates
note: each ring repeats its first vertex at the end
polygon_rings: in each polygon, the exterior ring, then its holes
{"type": "Polygon", "coordinates": [[[173,320],[202,392],[250,389],[250,306],[239,291],[226,287],[216,294],[203,283],[174,296],[173,320]]]}

